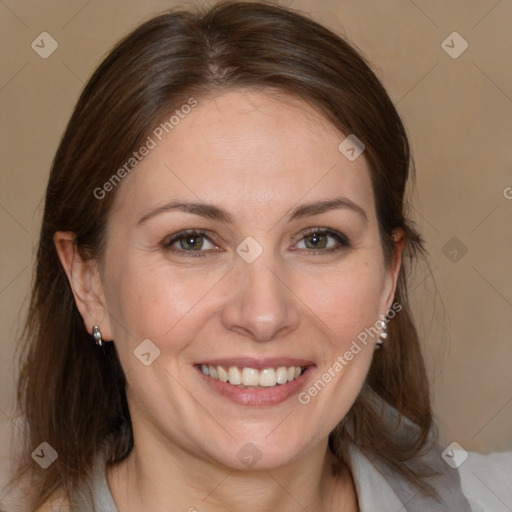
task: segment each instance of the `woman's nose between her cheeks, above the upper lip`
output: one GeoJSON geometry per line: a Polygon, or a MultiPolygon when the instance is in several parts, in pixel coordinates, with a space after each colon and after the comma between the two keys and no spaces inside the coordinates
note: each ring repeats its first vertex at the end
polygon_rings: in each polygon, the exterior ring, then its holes
{"type": "Polygon", "coordinates": [[[300,319],[299,299],[284,270],[265,252],[254,262],[238,261],[229,279],[222,323],[254,341],[271,341],[293,332],[300,319]]]}

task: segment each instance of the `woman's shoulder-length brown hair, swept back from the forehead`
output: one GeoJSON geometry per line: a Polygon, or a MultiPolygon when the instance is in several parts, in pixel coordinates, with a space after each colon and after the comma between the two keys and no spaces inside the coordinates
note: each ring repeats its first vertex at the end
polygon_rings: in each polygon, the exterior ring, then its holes
{"type": "Polygon", "coordinates": [[[406,216],[412,162],[404,126],[375,74],[341,37],[288,9],[224,2],[206,12],[166,12],[129,34],[89,80],[60,142],[47,188],[18,389],[27,428],[19,475],[32,476],[33,509],[56,490],[71,496],[101,449],[116,462],[133,446],[115,346],[98,349],[91,341],[53,235],[72,231],[84,258],[100,256],[115,190],[102,199],[94,190],[169,110],[191,95],[204,98],[240,87],[294,94],[366,146],[386,264],[393,230],[405,232],[394,297],[402,310],[389,323],[391,341],[373,358],[363,390],[331,434],[330,446],[341,453],[347,440],[355,442],[421,486],[421,474],[408,461],[425,448],[433,424],[406,288],[423,241],[406,216]],[[375,395],[418,426],[413,438],[394,437],[375,395]],[[45,470],[30,455],[43,441],[58,453],[45,470]]]}

